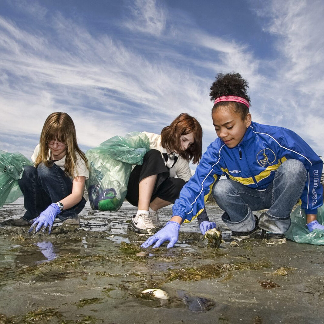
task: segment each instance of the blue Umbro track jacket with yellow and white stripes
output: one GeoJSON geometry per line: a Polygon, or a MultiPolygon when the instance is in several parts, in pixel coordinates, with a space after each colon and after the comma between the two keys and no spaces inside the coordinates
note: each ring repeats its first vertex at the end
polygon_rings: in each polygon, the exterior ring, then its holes
{"type": "Polygon", "coordinates": [[[307,181],[301,207],[306,214],[317,214],[317,208],[323,204],[323,186],[320,183],[323,161],[293,131],[252,122],[236,147],[228,148],[219,138],[207,147],[195,174],[175,201],[173,215],[188,222],[202,213],[205,201],[221,175],[249,188],[266,189],[277,168],[288,159],[304,164],[307,181]]]}

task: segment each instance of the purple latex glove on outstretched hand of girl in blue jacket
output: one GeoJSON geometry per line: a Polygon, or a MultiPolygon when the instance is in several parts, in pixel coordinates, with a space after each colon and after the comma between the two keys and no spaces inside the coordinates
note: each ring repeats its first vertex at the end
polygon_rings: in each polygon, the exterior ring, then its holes
{"type": "Polygon", "coordinates": [[[166,226],[160,229],[153,236],[149,237],[142,245],[142,248],[148,248],[155,243],[153,249],[158,248],[163,242],[170,241],[167,248],[172,248],[178,241],[180,225],[177,222],[168,221],[166,226]]]}

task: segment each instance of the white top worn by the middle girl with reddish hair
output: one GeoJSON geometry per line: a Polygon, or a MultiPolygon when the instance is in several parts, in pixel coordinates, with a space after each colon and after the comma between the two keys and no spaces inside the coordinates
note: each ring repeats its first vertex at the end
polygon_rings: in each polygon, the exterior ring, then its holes
{"type": "MultiPolygon", "coordinates": [[[[148,139],[150,140],[150,149],[156,149],[162,153],[167,153],[167,150],[162,147],[161,145],[161,135],[155,134],[155,133],[144,133],[148,139]]],[[[175,178],[176,176],[180,179],[183,179],[185,181],[188,181],[191,178],[191,170],[189,167],[189,162],[176,154],[178,156],[178,160],[175,163],[175,165],[169,169],[170,171],[170,178],[175,178]]],[[[162,155],[163,157],[163,155],[162,155]]]]}

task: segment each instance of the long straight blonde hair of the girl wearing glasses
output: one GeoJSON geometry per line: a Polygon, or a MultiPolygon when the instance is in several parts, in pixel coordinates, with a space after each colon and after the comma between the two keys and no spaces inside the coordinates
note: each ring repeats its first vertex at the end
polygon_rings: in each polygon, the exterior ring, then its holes
{"type": "Polygon", "coordinates": [[[51,167],[48,161],[48,141],[59,141],[65,143],[65,174],[74,178],[77,173],[76,168],[76,152],[86,163],[88,168],[88,160],[86,155],[80,150],[77,141],[75,126],[72,118],[66,112],[53,112],[46,118],[40,137],[40,153],[35,160],[35,166],[44,163],[46,167],[51,167]]]}

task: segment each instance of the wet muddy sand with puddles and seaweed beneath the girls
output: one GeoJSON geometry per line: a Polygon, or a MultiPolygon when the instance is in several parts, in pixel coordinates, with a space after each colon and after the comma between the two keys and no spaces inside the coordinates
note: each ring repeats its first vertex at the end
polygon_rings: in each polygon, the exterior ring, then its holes
{"type": "MultiPolygon", "coordinates": [[[[0,221],[20,217],[22,200],[0,221]]],[[[140,249],[127,231],[136,209],[80,214],[81,229],[52,234],[0,227],[0,323],[323,323],[323,246],[262,238],[230,244],[217,205],[207,206],[225,240],[198,247],[198,222],[181,226],[175,248],[140,249]],[[161,288],[169,299],[141,294],[161,288]]],[[[166,223],[171,207],[160,218],[166,223]]]]}

